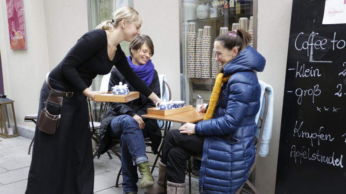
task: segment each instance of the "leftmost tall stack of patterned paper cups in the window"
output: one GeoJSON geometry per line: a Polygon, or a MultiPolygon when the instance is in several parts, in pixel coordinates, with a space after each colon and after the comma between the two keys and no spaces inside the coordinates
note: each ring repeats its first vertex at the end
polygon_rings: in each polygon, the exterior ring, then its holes
{"type": "Polygon", "coordinates": [[[195,77],[196,23],[189,23],[188,32],[188,77],[195,77]]]}

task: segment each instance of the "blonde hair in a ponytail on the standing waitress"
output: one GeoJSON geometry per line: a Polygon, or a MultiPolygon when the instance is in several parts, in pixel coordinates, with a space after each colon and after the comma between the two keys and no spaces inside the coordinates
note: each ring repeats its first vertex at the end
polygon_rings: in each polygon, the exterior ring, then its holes
{"type": "Polygon", "coordinates": [[[123,6],[115,12],[112,20],[103,21],[96,27],[96,29],[112,31],[122,20],[126,20],[128,23],[134,23],[139,26],[141,26],[143,22],[142,16],[135,9],[123,6]]]}

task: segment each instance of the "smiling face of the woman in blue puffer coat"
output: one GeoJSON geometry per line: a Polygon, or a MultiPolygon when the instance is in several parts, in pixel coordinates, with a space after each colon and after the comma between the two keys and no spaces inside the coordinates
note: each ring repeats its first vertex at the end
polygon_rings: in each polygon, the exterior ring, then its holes
{"type": "Polygon", "coordinates": [[[233,60],[238,54],[238,49],[236,47],[229,50],[222,45],[221,41],[214,42],[214,49],[216,52],[215,60],[219,62],[220,66],[227,64],[227,62],[233,60]]]}

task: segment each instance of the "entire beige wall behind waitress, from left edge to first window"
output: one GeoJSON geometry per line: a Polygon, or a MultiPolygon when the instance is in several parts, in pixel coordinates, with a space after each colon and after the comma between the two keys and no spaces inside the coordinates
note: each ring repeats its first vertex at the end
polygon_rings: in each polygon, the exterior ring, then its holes
{"type": "Polygon", "coordinates": [[[0,49],[4,93],[15,100],[17,125],[38,110],[39,91],[52,70],[88,31],[87,0],[23,0],[27,49],[11,50],[6,1],[0,4],[0,49]]]}

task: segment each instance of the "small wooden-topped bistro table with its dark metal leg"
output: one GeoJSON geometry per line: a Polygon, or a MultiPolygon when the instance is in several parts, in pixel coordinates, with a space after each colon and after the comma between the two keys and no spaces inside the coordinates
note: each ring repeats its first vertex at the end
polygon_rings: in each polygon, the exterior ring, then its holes
{"type": "MultiPolygon", "coordinates": [[[[170,130],[171,122],[183,123],[183,124],[185,124],[185,123],[197,123],[197,122],[203,120],[205,115],[206,115],[206,113],[199,113],[198,111],[195,110],[195,108],[193,108],[193,110],[182,112],[182,113],[177,113],[177,114],[173,114],[173,115],[162,116],[162,115],[145,114],[145,115],[142,115],[142,117],[166,121],[165,131],[164,131],[164,135],[163,135],[163,137],[165,137],[166,133],[170,130]]],[[[151,173],[153,173],[155,165],[156,165],[157,160],[158,160],[158,157],[160,156],[160,153],[162,150],[162,145],[163,145],[163,140],[162,140],[162,144],[160,146],[160,149],[158,150],[158,156],[155,159],[151,173]]]]}

